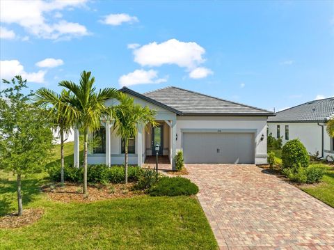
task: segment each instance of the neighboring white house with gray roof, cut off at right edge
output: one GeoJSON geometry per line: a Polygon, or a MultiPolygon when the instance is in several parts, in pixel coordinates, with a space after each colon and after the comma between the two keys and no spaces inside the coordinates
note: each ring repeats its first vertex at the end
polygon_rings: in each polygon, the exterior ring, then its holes
{"type": "Polygon", "coordinates": [[[334,97],[315,100],[277,112],[268,119],[269,134],[283,137],[283,144],[300,139],[311,155],[334,157],[334,140],[326,133],[326,122],[334,117],[334,97]]]}

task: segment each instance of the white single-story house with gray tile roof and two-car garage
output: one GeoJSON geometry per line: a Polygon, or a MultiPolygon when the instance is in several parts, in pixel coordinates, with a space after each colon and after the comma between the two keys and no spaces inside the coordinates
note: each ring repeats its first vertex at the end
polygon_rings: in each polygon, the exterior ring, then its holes
{"type": "MultiPolygon", "coordinates": [[[[170,162],[177,150],[183,150],[185,163],[267,163],[270,111],[173,86],[143,94],[126,87],[120,91],[156,110],[159,123],[158,127],[141,125],[136,138],[130,139],[129,164],[141,166],[146,157],[155,155],[157,143],[159,155],[168,156],[170,162]]],[[[115,134],[113,123],[102,120],[101,129],[93,135],[101,143],[90,148],[88,164],[124,164],[124,141],[115,134]]],[[[75,164],[79,162],[78,138],[75,132],[75,164]]]]}

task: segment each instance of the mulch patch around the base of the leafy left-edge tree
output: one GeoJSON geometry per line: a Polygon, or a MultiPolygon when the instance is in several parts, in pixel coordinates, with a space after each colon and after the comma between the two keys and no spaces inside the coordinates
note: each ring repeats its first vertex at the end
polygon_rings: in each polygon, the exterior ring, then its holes
{"type": "Polygon", "coordinates": [[[0,217],[0,228],[19,228],[33,224],[42,217],[43,213],[44,211],[40,208],[31,208],[23,210],[22,216],[17,216],[17,213],[5,215],[0,217]]]}

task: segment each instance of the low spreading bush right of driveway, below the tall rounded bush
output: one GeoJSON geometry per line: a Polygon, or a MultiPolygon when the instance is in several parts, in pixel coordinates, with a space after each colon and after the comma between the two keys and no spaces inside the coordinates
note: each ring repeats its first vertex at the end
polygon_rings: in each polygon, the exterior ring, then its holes
{"type": "Polygon", "coordinates": [[[319,182],[324,176],[324,168],[319,166],[309,166],[307,168],[299,167],[296,171],[294,169],[283,169],[283,174],[297,183],[312,184],[319,182]]]}

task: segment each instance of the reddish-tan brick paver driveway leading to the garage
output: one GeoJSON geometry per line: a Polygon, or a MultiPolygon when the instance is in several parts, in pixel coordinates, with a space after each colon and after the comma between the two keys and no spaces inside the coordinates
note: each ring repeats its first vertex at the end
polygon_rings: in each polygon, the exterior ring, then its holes
{"type": "Polygon", "coordinates": [[[221,249],[334,249],[334,209],[254,165],[186,164],[221,249]]]}

